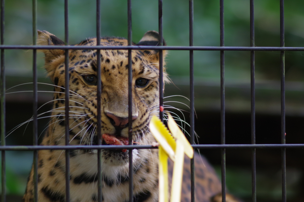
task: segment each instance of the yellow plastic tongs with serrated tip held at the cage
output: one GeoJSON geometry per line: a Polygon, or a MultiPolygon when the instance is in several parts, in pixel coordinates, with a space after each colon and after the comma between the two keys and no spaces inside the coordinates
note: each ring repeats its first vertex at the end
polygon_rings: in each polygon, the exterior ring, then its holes
{"type": "Polygon", "coordinates": [[[193,148],[171,114],[167,112],[167,115],[171,133],[156,116],[153,116],[150,121],[150,131],[159,143],[159,202],[168,202],[169,200],[168,156],[174,161],[170,202],[180,202],[184,154],[193,158],[193,148]]]}

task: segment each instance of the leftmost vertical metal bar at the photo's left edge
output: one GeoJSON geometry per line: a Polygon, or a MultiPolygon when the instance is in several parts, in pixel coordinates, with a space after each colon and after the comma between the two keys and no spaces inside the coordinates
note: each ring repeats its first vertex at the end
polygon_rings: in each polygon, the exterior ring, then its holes
{"type": "MultiPolygon", "coordinates": [[[[4,0],[1,0],[1,45],[4,44],[4,0]]],[[[5,66],[4,49],[1,49],[1,146],[5,146],[5,66]]],[[[6,174],[5,174],[5,150],[1,152],[1,201],[6,202],[6,174]]]]}

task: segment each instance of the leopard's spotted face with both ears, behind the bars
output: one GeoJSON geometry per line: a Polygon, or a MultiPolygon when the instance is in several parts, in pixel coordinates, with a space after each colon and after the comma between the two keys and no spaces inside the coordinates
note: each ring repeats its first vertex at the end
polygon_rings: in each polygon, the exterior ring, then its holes
{"type": "MultiPolygon", "coordinates": [[[[64,45],[64,42],[47,31],[38,31],[40,45],[64,45]]],[[[95,46],[96,38],[78,45],[95,46]]],[[[148,31],[139,45],[157,45],[158,33],[148,31]]],[[[102,38],[103,46],[126,46],[124,38],[102,38]]],[[[135,45],[135,44],[133,44],[135,45]]],[[[76,45],[77,46],[77,45],[76,45]]],[[[54,106],[44,144],[64,144],[65,109],[65,56],[63,50],[43,50],[45,68],[54,82],[54,106]]],[[[128,51],[100,50],[101,54],[101,134],[119,140],[128,139],[128,51]]],[[[148,123],[157,113],[159,105],[159,55],[158,51],[132,50],[132,138],[133,144],[147,144],[150,137],[148,123]]],[[[97,144],[97,50],[69,51],[69,128],[70,144],[97,144]]],[[[107,144],[105,140],[102,144],[107,144]]],[[[95,151],[89,151],[95,153],[95,151]]],[[[111,166],[128,163],[129,153],[122,150],[104,150],[102,161],[111,166]]],[[[134,150],[134,161],[139,153],[134,150]]]]}

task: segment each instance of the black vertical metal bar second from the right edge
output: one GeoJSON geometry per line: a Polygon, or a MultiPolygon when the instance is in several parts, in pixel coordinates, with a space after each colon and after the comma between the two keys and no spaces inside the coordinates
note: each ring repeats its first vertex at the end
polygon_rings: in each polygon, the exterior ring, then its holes
{"type": "MultiPolygon", "coordinates": [[[[254,0],[250,0],[250,46],[254,47],[254,0]]],[[[250,85],[251,85],[251,144],[255,144],[255,55],[250,51],[250,85]]],[[[257,201],[256,150],[251,150],[251,188],[252,202],[257,201]]]]}

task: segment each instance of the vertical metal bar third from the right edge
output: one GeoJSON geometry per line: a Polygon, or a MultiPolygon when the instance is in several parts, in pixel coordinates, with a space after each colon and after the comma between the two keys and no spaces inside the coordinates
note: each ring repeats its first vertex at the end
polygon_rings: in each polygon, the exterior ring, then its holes
{"type": "MultiPolygon", "coordinates": [[[[224,0],[219,1],[220,46],[224,46],[224,0]]],[[[221,72],[221,144],[225,144],[225,55],[220,51],[221,72]]],[[[222,201],[226,202],[226,150],[221,150],[222,201]]]]}

